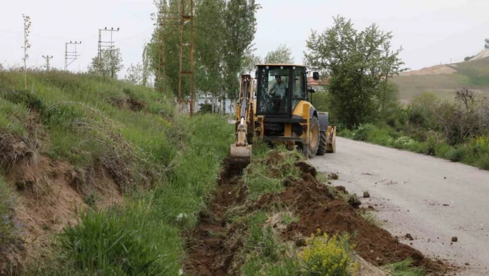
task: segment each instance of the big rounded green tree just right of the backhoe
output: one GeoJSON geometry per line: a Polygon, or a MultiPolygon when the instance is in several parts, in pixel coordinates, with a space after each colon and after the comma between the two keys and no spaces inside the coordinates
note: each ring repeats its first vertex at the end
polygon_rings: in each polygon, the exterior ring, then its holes
{"type": "Polygon", "coordinates": [[[331,104],[338,120],[347,127],[357,127],[373,120],[378,109],[379,89],[401,68],[402,47],[391,50],[392,33],[372,24],[358,32],[351,20],[335,17],[334,26],[318,34],[312,31],[307,40],[307,64],[329,74],[331,104]]]}

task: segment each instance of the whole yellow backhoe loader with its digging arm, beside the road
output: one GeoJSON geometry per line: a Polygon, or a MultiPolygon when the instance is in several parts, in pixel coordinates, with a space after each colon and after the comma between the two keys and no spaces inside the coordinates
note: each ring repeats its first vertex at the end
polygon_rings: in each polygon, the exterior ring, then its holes
{"type": "MultiPolygon", "coordinates": [[[[257,68],[255,77],[241,75],[231,158],[250,163],[256,140],[298,147],[307,158],[335,152],[336,127],[329,125],[327,112],[316,111],[309,102],[316,91],[307,85],[307,68],[293,64],[257,68]]],[[[314,72],[313,79],[319,80],[319,73],[314,72]]]]}

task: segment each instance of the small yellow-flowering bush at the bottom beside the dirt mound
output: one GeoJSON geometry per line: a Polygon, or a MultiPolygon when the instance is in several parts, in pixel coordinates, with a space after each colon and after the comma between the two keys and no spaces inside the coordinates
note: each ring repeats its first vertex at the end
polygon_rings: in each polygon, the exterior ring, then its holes
{"type": "Polygon", "coordinates": [[[350,256],[353,246],[349,245],[347,234],[340,237],[311,234],[306,242],[307,247],[298,255],[302,275],[347,276],[356,271],[358,264],[350,256]]]}

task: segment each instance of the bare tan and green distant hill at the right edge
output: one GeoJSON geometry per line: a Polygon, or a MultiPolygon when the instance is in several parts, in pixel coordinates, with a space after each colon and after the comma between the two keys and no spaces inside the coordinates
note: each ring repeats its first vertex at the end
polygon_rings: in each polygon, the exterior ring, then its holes
{"type": "Polygon", "coordinates": [[[454,89],[469,86],[479,97],[489,96],[489,51],[482,51],[468,62],[443,64],[408,71],[394,77],[402,102],[419,93],[430,92],[442,100],[453,100],[454,89]]]}

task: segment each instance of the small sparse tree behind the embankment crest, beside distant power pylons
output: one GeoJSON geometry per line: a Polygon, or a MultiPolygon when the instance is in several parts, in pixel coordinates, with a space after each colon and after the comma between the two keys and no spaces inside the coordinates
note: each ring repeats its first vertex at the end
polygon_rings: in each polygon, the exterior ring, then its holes
{"type": "Polygon", "coordinates": [[[98,55],[93,57],[92,62],[88,65],[88,72],[117,78],[117,73],[123,68],[121,51],[115,48],[102,52],[102,58],[98,55]]]}

